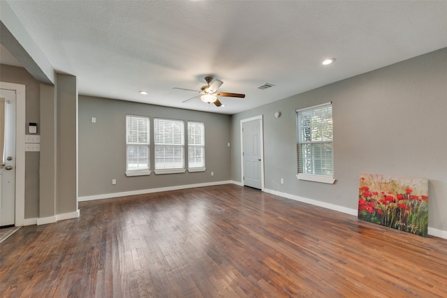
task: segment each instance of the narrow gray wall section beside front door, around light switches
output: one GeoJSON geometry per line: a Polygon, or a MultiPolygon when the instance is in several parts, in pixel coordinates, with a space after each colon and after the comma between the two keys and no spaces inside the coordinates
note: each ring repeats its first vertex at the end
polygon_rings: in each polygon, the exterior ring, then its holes
{"type": "MultiPolygon", "coordinates": [[[[40,133],[40,86],[32,75],[22,67],[0,65],[0,81],[26,85],[26,131],[29,122],[37,123],[40,133]]],[[[24,218],[39,216],[39,153],[25,152],[25,212],[24,218]]]]}

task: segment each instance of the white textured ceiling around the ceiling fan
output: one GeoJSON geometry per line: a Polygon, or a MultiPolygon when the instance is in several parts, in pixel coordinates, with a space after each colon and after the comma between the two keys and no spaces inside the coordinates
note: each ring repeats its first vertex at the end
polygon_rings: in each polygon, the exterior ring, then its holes
{"type": "Polygon", "coordinates": [[[447,1],[8,2],[79,94],[224,114],[447,47],[447,1]],[[206,75],[246,98],[182,103],[206,75]]]}

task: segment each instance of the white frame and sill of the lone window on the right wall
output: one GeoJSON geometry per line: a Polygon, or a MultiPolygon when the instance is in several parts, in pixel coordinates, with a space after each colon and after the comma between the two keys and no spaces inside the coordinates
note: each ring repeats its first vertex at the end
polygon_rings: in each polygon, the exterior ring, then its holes
{"type": "MultiPolygon", "coordinates": [[[[334,178],[334,145],[333,145],[333,110],[332,110],[332,102],[329,103],[323,103],[321,105],[313,105],[312,107],[305,107],[302,109],[298,109],[296,110],[296,128],[297,128],[297,172],[298,174],[297,179],[298,180],[305,180],[305,181],[314,181],[314,182],[321,182],[321,183],[325,183],[325,184],[334,184],[335,183],[335,178],[334,178]],[[302,114],[302,112],[305,111],[309,111],[309,110],[318,110],[321,109],[323,107],[327,107],[330,106],[331,107],[331,126],[332,126],[332,131],[331,131],[331,135],[332,135],[332,140],[324,140],[324,141],[307,141],[307,142],[300,142],[300,115],[302,114]],[[328,144],[330,143],[332,146],[332,150],[331,150],[331,161],[332,161],[332,175],[325,175],[325,174],[315,174],[315,171],[312,174],[309,173],[304,173],[302,172],[302,170],[300,170],[300,144],[328,144]],[[300,172],[301,171],[301,172],[300,172]]],[[[304,157],[303,157],[304,158],[304,157]]],[[[314,159],[312,159],[312,161],[314,161],[314,159]]]]}

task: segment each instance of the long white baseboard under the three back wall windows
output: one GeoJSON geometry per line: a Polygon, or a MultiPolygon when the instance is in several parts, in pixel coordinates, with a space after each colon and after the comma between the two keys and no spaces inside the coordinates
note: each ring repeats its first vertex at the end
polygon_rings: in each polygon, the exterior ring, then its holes
{"type": "Polygon", "coordinates": [[[87,195],[84,197],[79,197],[78,202],[119,198],[119,197],[126,197],[127,195],[145,195],[146,193],[159,193],[161,191],[178,191],[180,189],[186,189],[186,188],[215,186],[215,185],[222,185],[222,184],[233,184],[233,181],[217,181],[217,182],[207,182],[207,183],[200,183],[200,184],[187,184],[187,185],[168,186],[168,187],[161,187],[161,188],[141,189],[139,191],[124,191],[122,193],[105,193],[103,195],[87,195]]]}

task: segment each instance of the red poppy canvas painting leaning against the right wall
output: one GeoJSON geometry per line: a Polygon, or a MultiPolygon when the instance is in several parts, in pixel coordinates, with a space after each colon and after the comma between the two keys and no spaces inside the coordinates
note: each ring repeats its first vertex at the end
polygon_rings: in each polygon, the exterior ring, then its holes
{"type": "Polygon", "coordinates": [[[360,174],[358,218],[427,237],[428,179],[360,174]]]}

